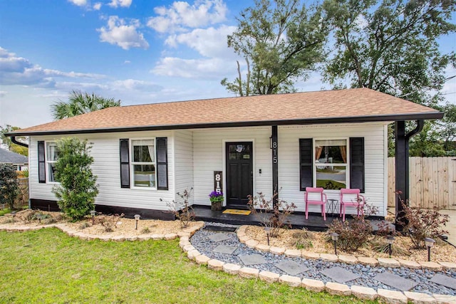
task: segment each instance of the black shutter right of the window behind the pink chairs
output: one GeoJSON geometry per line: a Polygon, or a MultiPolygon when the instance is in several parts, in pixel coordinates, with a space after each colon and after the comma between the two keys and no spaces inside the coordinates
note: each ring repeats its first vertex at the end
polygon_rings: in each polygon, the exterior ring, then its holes
{"type": "Polygon", "coordinates": [[[350,137],[350,188],[364,192],[364,137],[350,137]]]}

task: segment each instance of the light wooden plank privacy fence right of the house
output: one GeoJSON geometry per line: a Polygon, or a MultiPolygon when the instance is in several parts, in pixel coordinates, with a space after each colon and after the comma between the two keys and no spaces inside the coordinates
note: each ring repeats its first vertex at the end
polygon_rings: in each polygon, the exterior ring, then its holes
{"type": "MultiPolygon", "coordinates": [[[[410,206],[456,210],[456,157],[410,157],[410,206]]],[[[388,206],[395,204],[395,158],[388,157],[388,206]]]]}

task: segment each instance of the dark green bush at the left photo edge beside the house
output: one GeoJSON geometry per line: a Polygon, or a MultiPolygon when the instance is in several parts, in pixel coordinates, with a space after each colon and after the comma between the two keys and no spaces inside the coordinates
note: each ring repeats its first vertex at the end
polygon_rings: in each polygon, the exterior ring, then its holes
{"type": "Polygon", "coordinates": [[[12,164],[0,164],[0,204],[14,209],[14,201],[19,192],[16,168],[12,164]]]}

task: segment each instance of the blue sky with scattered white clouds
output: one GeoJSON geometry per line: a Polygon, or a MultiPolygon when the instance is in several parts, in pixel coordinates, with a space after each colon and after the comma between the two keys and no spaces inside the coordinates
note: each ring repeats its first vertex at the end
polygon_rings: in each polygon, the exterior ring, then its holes
{"type": "MultiPolygon", "coordinates": [[[[52,120],[50,106],[83,90],[123,105],[229,97],[237,56],[227,48],[238,0],[0,1],[0,125],[52,120]]],[[[456,18],[454,18],[456,19],[456,18]]],[[[456,51],[456,35],[440,40],[456,51]]],[[[456,70],[447,69],[447,76],[456,70]]],[[[299,91],[331,88],[313,74],[299,91]]],[[[456,103],[456,78],[445,84],[456,103]]]]}

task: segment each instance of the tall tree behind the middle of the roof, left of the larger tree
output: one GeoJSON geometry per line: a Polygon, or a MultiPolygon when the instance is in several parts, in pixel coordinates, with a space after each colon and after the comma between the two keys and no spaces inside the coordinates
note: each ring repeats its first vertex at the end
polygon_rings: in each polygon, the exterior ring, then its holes
{"type": "Polygon", "coordinates": [[[228,46],[245,58],[247,77],[222,80],[238,95],[294,91],[294,83],[306,79],[323,59],[328,26],[320,6],[307,8],[300,0],[255,0],[237,17],[237,30],[227,37],[228,46]]]}

